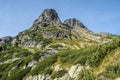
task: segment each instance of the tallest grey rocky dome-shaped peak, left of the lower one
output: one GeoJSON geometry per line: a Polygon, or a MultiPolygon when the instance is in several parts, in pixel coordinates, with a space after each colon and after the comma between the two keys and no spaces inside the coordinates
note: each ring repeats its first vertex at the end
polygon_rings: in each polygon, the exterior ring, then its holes
{"type": "Polygon", "coordinates": [[[48,25],[54,25],[61,23],[57,12],[54,9],[45,9],[39,18],[34,22],[34,25],[46,27],[48,25]]]}

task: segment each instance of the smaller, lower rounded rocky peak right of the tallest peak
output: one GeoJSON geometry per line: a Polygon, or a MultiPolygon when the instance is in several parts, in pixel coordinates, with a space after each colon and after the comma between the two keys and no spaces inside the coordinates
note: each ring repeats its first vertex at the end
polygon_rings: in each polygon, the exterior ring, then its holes
{"type": "Polygon", "coordinates": [[[66,19],[64,21],[64,24],[66,24],[66,25],[68,25],[70,27],[73,27],[73,28],[74,27],[81,27],[81,28],[86,28],[87,29],[87,27],[85,27],[83,25],[83,23],[81,21],[79,21],[78,19],[76,19],[76,18],[66,19]]]}

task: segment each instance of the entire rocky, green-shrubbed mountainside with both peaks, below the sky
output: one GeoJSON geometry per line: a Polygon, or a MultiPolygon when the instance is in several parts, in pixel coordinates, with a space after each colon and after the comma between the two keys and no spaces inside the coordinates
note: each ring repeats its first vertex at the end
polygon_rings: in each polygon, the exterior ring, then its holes
{"type": "Polygon", "coordinates": [[[15,37],[0,38],[0,80],[119,80],[120,36],[95,33],[45,9],[15,37]]]}

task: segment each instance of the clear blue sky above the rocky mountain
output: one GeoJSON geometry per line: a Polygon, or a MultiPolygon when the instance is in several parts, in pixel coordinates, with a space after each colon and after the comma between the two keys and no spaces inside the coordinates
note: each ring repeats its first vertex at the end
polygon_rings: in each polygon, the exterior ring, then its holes
{"type": "Polygon", "coordinates": [[[0,37],[30,28],[46,8],[62,21],[75,17],[94,32],[120,34],[120,0],[0,0],[0,37]]]}

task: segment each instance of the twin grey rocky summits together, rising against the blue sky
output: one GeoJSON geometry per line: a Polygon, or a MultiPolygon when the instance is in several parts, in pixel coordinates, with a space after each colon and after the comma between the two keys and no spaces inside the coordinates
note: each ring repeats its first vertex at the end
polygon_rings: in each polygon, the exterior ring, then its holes
{"type": "Polygon", "coordinates": [[[67,28],[84,28],[84,24],[76,18],[66,19],[63,23],[61,22],[57,12],[54,9],[45,9],[42,14],[35,20],[33,23],[33,28],[36,27],[48,27],[48,26],[56,26],[56,27],[67,27],[67,28]]]}

